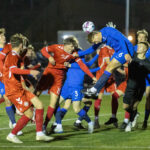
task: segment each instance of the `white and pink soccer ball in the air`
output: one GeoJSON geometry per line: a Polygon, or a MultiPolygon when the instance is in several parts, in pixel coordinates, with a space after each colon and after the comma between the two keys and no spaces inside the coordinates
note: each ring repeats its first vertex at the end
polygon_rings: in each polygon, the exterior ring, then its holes
{"type": "Polygon", "coordinates": [[[82,29],[86,33],[90,33],[95,29],[95,25],[92,21],[86,21],[82,25],[82,29]]]}

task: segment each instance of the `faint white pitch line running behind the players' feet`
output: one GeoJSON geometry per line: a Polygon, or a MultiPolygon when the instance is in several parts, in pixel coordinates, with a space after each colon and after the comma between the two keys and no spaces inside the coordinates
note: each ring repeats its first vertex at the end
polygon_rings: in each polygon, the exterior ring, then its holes
{"type": "MultiPolygon", "coordinates": [[[[121,115],[123,114],[124,112],[118,112],[117,115],[121,115]]],[[[99,115],[99,117],[105,117],[105,116],[110,116],[111,114],[108,113],[108,114],[101,114],[99,115]]],[[[93,118],[94,116],[90,116],[90,118],[93,118]]],[[[67,121],[72,121],[72,120],[76,120],[77,118],[71,118],[71,119],[64,119],[62,120],[63,122],[67,122],[67,121]]],[[[35,126],[35,124],[28,124],[26,127],[30,127],[30,126],[35,126]]],[[[8,128],[0,128],[0,130],[8,130],[10,129],[9,127],[8,128]]]]}

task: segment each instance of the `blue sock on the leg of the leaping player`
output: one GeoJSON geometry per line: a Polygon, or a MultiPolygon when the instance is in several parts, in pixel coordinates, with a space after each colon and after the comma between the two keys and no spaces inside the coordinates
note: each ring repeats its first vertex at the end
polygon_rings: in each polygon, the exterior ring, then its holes
{"type": "Polygon", "coordinates": [[[100,90],[105,86],[110,76],[111,76],[110,72],[104,71],[103,75],[99,78],[99,80],[94,85],[94,87],[97,89],[97,93],[99,93],[100,90]]]}

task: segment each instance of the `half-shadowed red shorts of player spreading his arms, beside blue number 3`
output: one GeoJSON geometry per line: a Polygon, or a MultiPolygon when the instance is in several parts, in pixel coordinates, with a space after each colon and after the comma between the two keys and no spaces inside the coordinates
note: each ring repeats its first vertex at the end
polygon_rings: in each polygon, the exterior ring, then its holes
{"type": "Polygon", "coordinates": [[[48,90],[56,95],[60,94],[60,90],[64,80],[64,70],[46,68],[38,82],[36,91],[48,90]]]}

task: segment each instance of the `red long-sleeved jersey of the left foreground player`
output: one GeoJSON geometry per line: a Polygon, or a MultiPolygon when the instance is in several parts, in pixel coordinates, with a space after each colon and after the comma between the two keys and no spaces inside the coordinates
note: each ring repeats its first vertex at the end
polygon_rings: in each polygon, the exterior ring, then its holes
{"type": "Polygon", "coordinates": [[[6,96],[16,93],[23,94],[24,89],[21,84],[21,76],[19,74],[30,74],[29,70],[19,69],[21,60],[20,56],[11,51],[5,59],[3,67],[3,80],[5,84],[6,96]]]}

